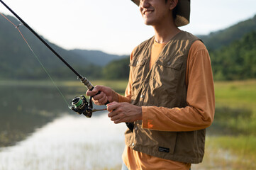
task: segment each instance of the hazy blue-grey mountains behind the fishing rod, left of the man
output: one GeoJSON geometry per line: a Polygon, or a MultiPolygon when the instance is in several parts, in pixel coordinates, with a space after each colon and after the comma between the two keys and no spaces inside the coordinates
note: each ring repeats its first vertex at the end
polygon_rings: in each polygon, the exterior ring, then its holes
{"type": "MultiPolygon", "coordinates": [[[[20,23],[12,16],[6,16],[16,26],[20,23]]],[[[32,26],[31,26],[32,27],[32,26]]],[[[58,78],[74,77],[74,74],[63,64],[38,38],[30,33],[25,26],[19,27],[21,33],[30,44],[38,59],[45,66],[50,74],[58,78]]],[[[42,37],[43,38],[43,37],[42,37]]],[[[45,38],[43,38],[45,39],[45,38]]],[[[123,56],[109,55],[100,51],[89,50],[65,50],[48,40],[48,44],[60,54],[74,69],[82,72],[82,74],[94,74],[102,66],[111,62],[111,60],[120,59],[123,56]]],[[[26,42],[21,37],[18,30],[3,16],[0,16],[0,79],[15,78],[15,79],[45,79],[46,74],[40,66],[38,60],[33,57],[26,45],[26,42]]],[[[96,74],[99,75],[99,74],[96,74]]],[[[90,76],[87,76],[90,77],[90,76]]]]}

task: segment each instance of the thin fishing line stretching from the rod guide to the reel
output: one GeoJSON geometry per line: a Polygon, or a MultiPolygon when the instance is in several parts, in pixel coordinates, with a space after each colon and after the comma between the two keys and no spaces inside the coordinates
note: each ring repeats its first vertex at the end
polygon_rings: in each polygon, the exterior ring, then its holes
{"type": "MultiPolygon", "coordinates": [[[[0,13],[1,16],[4,16],[4,14],[0,13]]],[[[4,18],[6,18],[6,16],[4,16],[4,18]]],[[[48,74],[48,77],[50,78],[50,80],[52,81],[52,84],[54,84],[55,88],[57,89],[57,91],[59,91],[60,95],[62,96],[62,98],[64,99],[65,103],[67,103],[67,106],[69,106],[69,103],[67,102],[65,96],[62,94],[62,92],[60,91],[60,89],[57,87],[57,85],[55,84],[55,81],[52,79],[52,77],[50,76],[49,72],[47,71],[47,69],[45,69],[45,67],[43,66],[43,63],[40,62],[38,56],[35,54],[35,52],[33,51],[33,49],[30,47],[30,45],[28,44],[28,41],[26,40],[26,38],[24,38],[23,34],[21,33],[21,30],[18,29],[18,27],[22,26],[22,24],[19,24],[18,26],[16,26],[14,23],[12,23],[8,18],[6,18],[7,21],[9,21],[13,26],[15,26],[15,28],[18,30],[18,32],[21,34],[21,37],[23,38],[23,40],[26,42],[26,44],[28,45],[30,51],[33,53],[34,57],[36,58],[36,60],[38,60],[39,64],[41,65],[41,67],[43,67],[43,70],[45,70],[45,73],[48,74]]]]}

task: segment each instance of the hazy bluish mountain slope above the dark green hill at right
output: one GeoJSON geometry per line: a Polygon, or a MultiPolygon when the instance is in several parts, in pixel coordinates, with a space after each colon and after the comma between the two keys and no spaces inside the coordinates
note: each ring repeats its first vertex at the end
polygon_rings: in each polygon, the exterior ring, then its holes
{"type": "Polygon", "coordinates": [[[229,45],[235,40],[240,40],[247,33],[256,30],[256,15],[229,28],[218,30],[209,35],[198,35],[204,41],[208,50],[217,50],[224,45],[229,45]]]}

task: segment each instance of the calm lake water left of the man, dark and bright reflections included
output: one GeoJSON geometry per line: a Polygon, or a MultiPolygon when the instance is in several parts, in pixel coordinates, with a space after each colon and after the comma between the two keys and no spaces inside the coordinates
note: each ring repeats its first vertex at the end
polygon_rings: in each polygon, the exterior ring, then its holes
{"type": "MultiPolygon", "coordinates": [[[[87,90],[60,89],[67,101],[87,90]]],[[[48,82],[0,81],[0,170],[121,169],[125,130],[106,111],[70,111],[48,82]]]]}

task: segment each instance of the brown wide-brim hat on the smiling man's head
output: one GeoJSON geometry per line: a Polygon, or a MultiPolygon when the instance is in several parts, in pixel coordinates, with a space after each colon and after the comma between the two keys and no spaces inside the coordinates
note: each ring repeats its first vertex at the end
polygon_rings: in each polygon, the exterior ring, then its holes
{"type": "MultiPolygon", "coordinates": [[[[136,5],[140,5],[140,0],[131,0],[136,5]]],[[[175,25],[177,27],[186,26],[189,24],[190,17],[190,0],[179,0],[176,6],[177,16],[175,18],[175,25]]]]}

